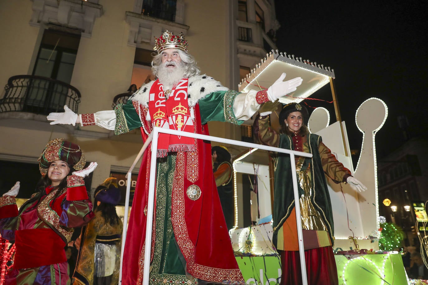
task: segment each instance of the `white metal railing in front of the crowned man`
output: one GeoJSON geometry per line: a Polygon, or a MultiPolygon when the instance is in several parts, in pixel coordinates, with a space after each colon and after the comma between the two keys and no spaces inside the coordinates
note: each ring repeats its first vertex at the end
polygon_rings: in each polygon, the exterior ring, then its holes
{"type": "MultiPolygon", "coordinates": [[[[197,138],[207,141],[216,141],[223,144],[232,144],[232,145],[238,145],[241,147],[250,147],[250,148],[258,148],[260,150],[268,150],[268,151],[274,151],[279,153],[288,153],[290,155],[290,165],[291,169],[296,169],[296,164],[294,161],[294,156],[304,156],[304,157],[312,157],[311,153],[303,153],[300,151],[294,151],[294,150],[286,150],[279,147],[269,147],[262,144],[253,144],[253,143],[247,143],[244,141],[235,141],[227,138],[218,138],[213,137],[211,135],[201,135],[201,134],[195,134],[191,132],[182,132],[177,131],[174,129],[163,129],[159,127],[154,127],[152,133],[147,138],[146,142],[144,143],[143,147],[140,150],[140,153],[138,153],[137,157],[134,160],[134,163],[132,164],[131,168],[128,170],[128,173],[126,174],[126,177],[128,178],[127,185],[126,185],[126,197],[125,197],[125,214],[123,219],[123,233],[122,233],[122,251],[121,251],[121,259],[120,259],[120,284],[122,284],[122,260],[123,260],[123,251],[125,248],[125,240],[126,240],[126,229],[128,225],[128,204],[129,204],[129,192],[131,190],[131,173],[134,169],[135,165],[137,165],[137,162],[140,160],[141,156],[143,156],[143,153],[146,151],[147,147],[149,146],[150,142],[152,142],[152,156],[150,159],[150,176],[149,176],[149,198],[147,201],[147,222],[146,225],[152,225],[153,222],[153,205],[155,200],[155,177],[156,177],[156,154],[158,149],[158,136],[159,133],[166,133],[170,135],[180,135],[184,137],[189,138],[197,138]]],[[[299,203],[299,194],[297,190],[297,175],[296,171],[291,171],[291,176],[293,179],[293,191],[294,191],[294,206],[296,209],[296,220],[300,221],[300,203],[299,203]]],[[[303,246],[303,233],[302,233],[302,223],[297,222],[297,237],[298,237],[298,243],[299,243],[299,253],[300,253],[300,269],[302,273],[302,282],[303,285],[308,284],[307,276],[306,276],[306,263],[305,263],[305,252],[304,252],[304,246],[303,246]]],[[[152,226],[146,226],[146,241],[149,241],[152,239],[152,226]]],[[[144,251],[144,270],[143,270],[143,285],[149,284],[149,269],[150,269],[150,251],[151,251],[151,242],[146,242],[146,247],[144,251]],[[148,261],[148,262],[147,262],[148,261]]]]}

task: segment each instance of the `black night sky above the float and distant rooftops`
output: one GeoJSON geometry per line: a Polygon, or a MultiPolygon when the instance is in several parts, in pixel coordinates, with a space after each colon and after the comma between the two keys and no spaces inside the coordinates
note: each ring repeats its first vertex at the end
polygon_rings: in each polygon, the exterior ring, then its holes
{"type": "MultiPolygon", "coordinates": [[[[380,158],[404,143],[399,115],[407,116],[411,137],[428,133],[427,11],[425,1],[276,0],[278,50],[334,69],[351,149],[360,150],[362,141],[355,111],[370,97],[388,106],[376,135],[380,158]]],[[[330,85],[312,97],[331,101],[330,85]]],[[[336,121],[333,104],[304,102],[329,109],[330,123],[336,121]]]]}

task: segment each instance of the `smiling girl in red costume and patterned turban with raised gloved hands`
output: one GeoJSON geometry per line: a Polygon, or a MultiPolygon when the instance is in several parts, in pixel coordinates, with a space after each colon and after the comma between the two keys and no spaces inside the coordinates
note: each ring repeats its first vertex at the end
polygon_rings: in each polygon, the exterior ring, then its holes
{"type": "Polygon", "coordinates": [[[85,163],[77,144],[54,139],[39,158],[38,192],[19,211],[19,186],[0,197],[0,232],[16,248],[5,284],[70,284],[64,247],[74,228],[94,217],[83,178],[97,163],[82,169],[85,163]]]}

